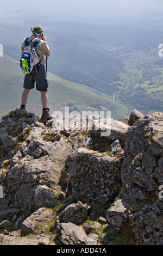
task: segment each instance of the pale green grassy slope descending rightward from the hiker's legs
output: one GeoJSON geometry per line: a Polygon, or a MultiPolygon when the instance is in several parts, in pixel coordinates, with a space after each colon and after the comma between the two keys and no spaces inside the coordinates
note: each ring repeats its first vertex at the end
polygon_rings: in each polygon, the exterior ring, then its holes
{"type": "Polygon", "coordinates": [[[48,73],[49,103],[60,103],[67,106],[72,103],[81,111],[111,111],[112,118],[121,118],[128,114],[128,109],[112,101],[112,96],[100,93],[82,84],[66,81],[48,73]]]}

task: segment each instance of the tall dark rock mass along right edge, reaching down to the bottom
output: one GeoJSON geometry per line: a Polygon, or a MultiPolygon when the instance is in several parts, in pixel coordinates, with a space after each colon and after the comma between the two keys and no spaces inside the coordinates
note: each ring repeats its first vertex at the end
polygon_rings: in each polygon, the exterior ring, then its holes
{"type": "MultiPolygon", "coordinates": [[[[123,190],[119,197],[130,214],[121,223],[116,222],[117,212],[111,216],[112,225],[117,228],[122,225],[117,237],[120,244],[162,244],[163,199],[158,192],[163,181],[162,141],[163,113],[160,112],[137,120],[126,133],[121,170],[123,190]]],[[[109,216],[110,209],[110,222],[109,216]]]]}

